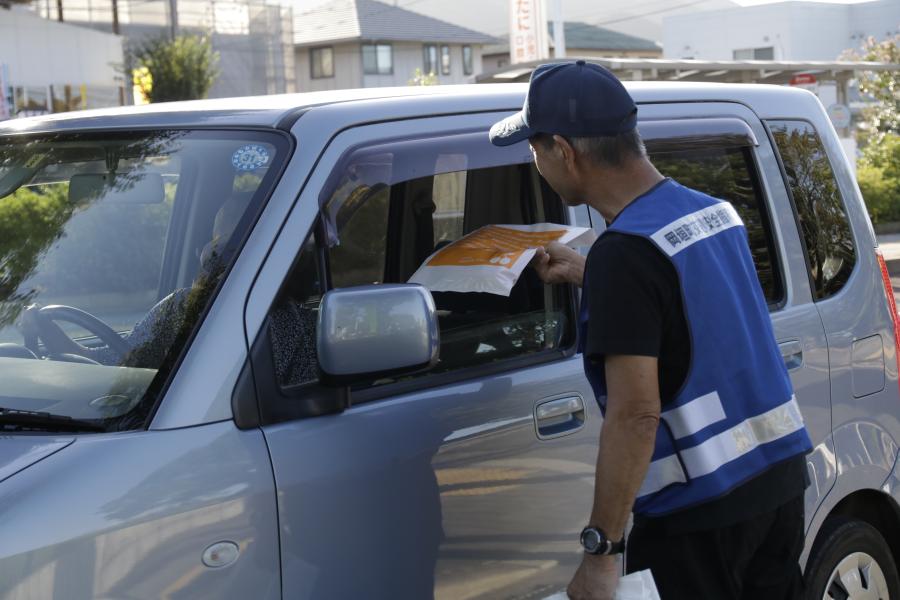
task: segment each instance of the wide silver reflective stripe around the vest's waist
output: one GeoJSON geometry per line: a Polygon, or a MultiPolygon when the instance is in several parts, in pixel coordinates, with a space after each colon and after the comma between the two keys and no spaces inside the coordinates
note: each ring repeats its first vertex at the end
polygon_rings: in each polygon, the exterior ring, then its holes
{"type": "MultiPolygon", "coordinates": [[[[681,408],[689,408],[707,396],[698,398],[681,408]]],[[[717,395],[716,398],[718,398],[717,395]]],[[[721,403],[719,403],[719,407],[721,409],[721,403]]],[[[678,410],[680,409],[666,411],[663,416],[665,418],[667,413],[678,410]]],[[[672,417],[668,417],[666,422],[669,422],[670,418],[672,417]]],[[[681,467],[681,461],[684,461],[688,477],[702,477],[763,444],[774,442],[802,428],[803,417],[800,414],[800,407],[797,405],[796,397],[792,396],[790,400],[768,412],[742,421],[702,444],[682,450],[681,460],[678,455],[672,454],[653,461],[650,463],[647,476],[638,491],[638,498],[658,492],[673,483],[686,483],[687,477],[681,467]]],[[[684,435],[695,432],[691,431],[684,435]]],[[[678,436],[676,435],[676,437],[678,436]]]]}

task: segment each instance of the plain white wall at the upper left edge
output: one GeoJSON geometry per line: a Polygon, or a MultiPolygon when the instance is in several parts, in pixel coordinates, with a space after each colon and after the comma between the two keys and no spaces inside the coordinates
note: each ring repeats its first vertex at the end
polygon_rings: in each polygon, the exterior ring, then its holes
{"type": "Polygon", "coordinates": [[[0,9],[0,62],[7,65],[11,86],[117,87],[122,38],[0,9]]]}

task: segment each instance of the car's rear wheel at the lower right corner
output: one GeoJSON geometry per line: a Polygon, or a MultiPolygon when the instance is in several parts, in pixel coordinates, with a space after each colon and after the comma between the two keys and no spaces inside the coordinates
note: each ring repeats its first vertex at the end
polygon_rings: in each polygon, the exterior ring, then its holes
{"type": "Polygon", "coordinates": [[[804,580],[808,600],[900,600],[900,577],[887,542],[855,519],[825,522],[804,580]]]}

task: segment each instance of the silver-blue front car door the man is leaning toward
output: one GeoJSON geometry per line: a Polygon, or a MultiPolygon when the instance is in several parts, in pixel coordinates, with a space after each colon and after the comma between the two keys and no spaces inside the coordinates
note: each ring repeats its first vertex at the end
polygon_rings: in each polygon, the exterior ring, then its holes
{"type": "Polygon", "coordinates": [[[579,564],[601,419],[574,352],[575,290],[526,274],[509,298],[435,294],[431,372],[334,389],[309,368],[325,289],[405,281],[480,225],[574,219],[527,145],[489,144],[505,114],[338,135],[251,294],[272,307],[253,376],[286,597],[543,597],[579,564]]]}

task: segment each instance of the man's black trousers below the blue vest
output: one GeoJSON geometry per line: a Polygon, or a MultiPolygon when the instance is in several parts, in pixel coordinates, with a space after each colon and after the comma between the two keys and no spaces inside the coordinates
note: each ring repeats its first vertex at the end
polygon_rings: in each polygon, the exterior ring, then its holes
{"type": "Polygon", "coordinates": [[[793,600],[802,594],[803,496],[719,529],[668,535],[652,520],[628,537],[629,573],[650,569],[662,600],[793,600]]]}

